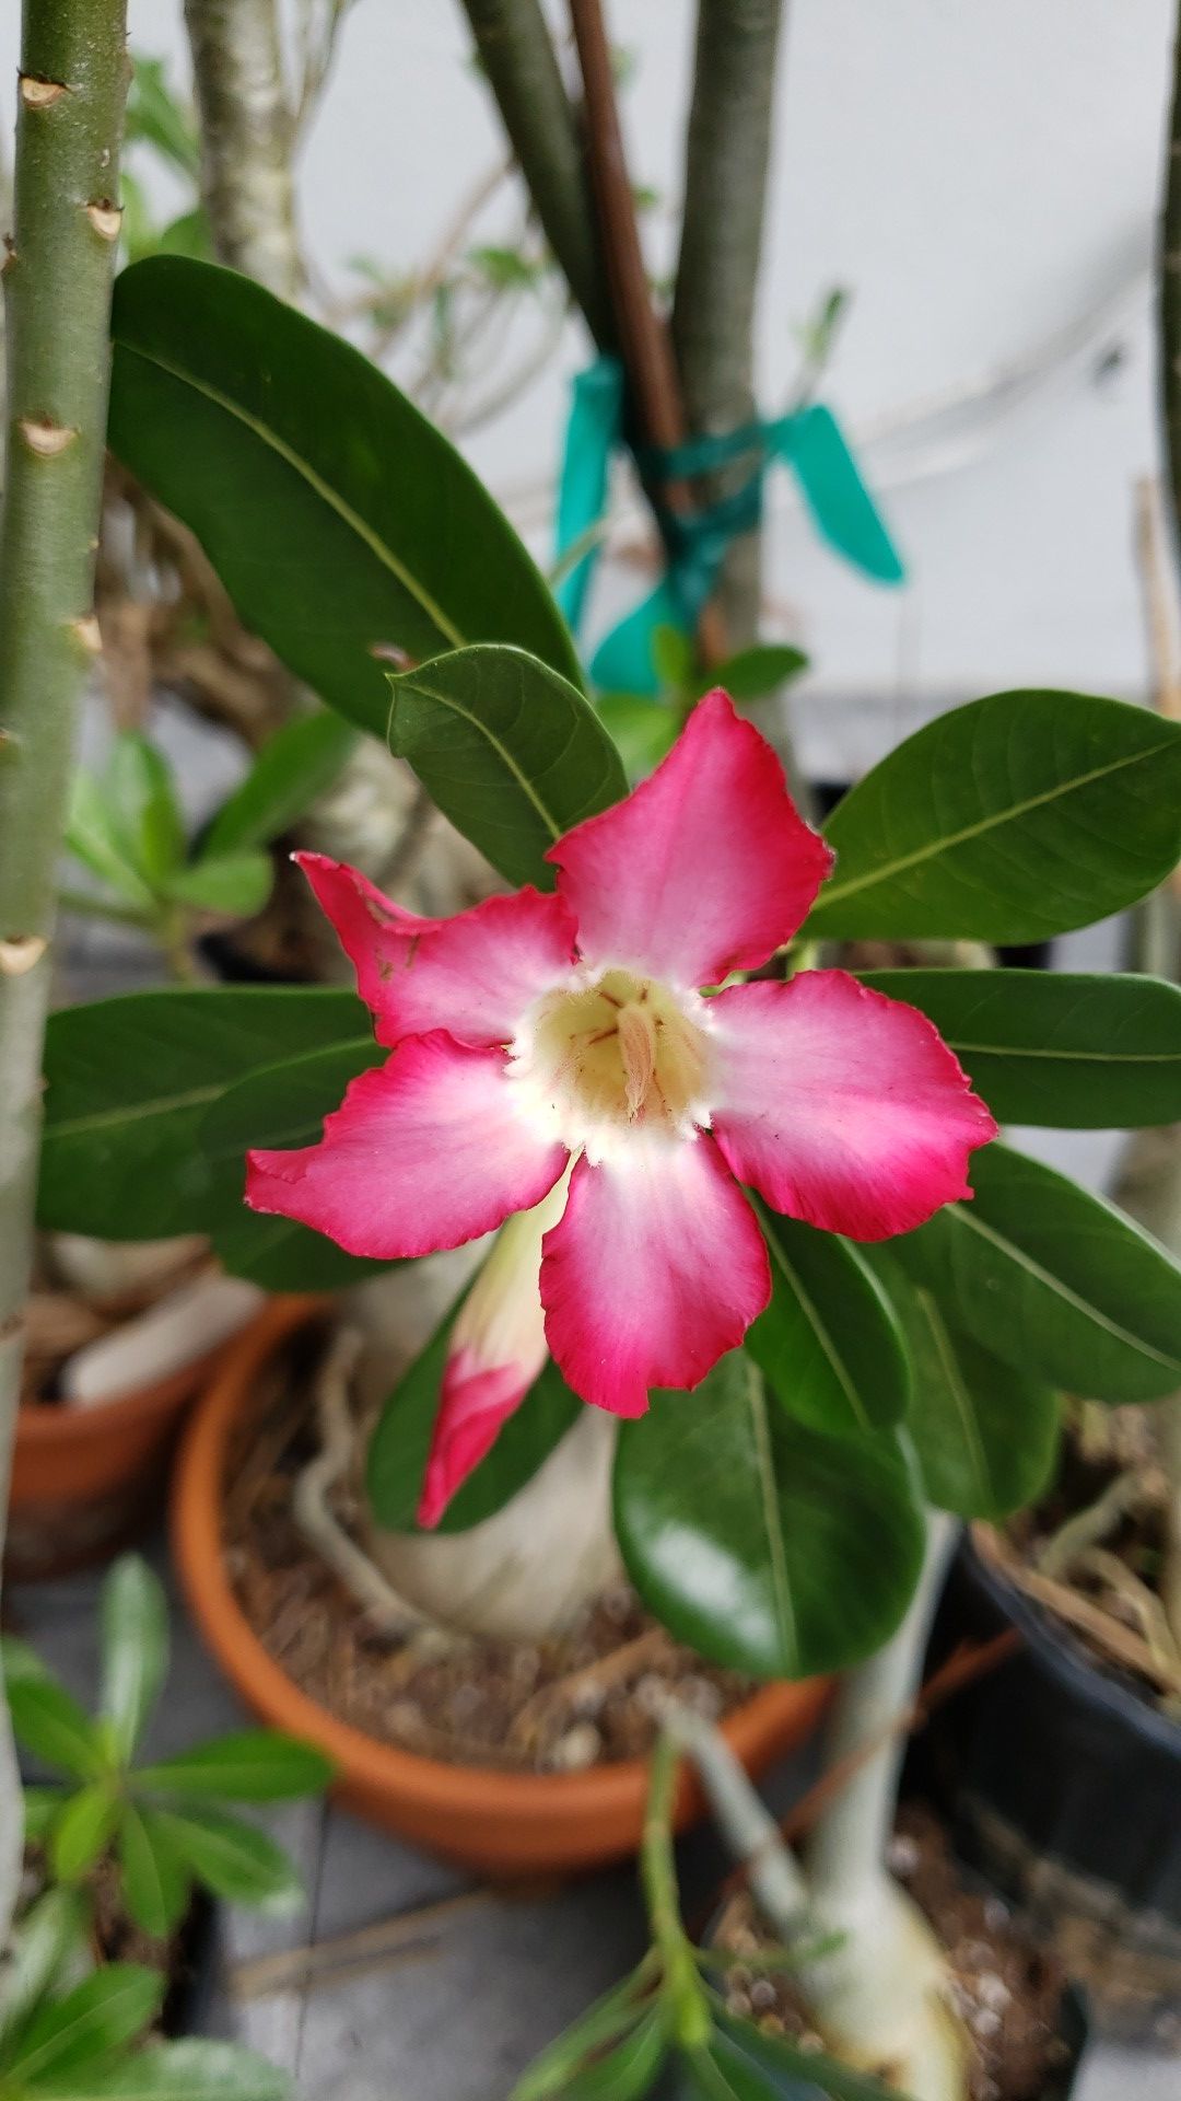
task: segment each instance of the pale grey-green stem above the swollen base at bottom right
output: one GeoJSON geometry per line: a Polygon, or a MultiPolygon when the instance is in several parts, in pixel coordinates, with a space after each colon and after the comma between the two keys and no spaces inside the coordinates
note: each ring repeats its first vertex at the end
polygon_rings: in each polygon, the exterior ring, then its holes
{"type": "Polygon", "coordinates": [[[914,1704],[954,1538],[954,1519],[933,1513],[923,1576],[906,1620],[885,1649],[841,1679],[826,1763],[834,1767],[845,1759],[851,1761],[866,1742],[880,1742],[880,1750],[853,1771],[807,1843],[807,1882],[820,1916],[826,1916],[828,1906],[841,1908],[885,1874],[897,1811],[897,1777],[906,1754],[906,1738],[891,1731],[891,1723],[914,1704]]]}

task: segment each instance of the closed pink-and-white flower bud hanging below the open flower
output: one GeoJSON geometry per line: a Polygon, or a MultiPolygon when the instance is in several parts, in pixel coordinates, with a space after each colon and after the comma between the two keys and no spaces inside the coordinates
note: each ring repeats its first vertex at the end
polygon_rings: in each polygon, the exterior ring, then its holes
{"type": "Polygon", "coordinates": [[[496,1235],[450,1334],[418,1523],[437,1525],[488,1456],[548,1357],[538,1271],[542,1235],[565,1208],[565,1177],[496,1235]]]}

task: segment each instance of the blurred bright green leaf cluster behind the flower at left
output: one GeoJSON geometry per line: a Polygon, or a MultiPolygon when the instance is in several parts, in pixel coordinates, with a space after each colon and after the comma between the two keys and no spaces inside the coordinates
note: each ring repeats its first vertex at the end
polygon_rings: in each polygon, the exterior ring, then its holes
{"type": "Polygon", "coordinates": [[[271,895],[265,851],[338,777],[353,731],[324,710],[267,737],[246,779],[189,840],[172,767],[137,729],[111,744],[105,767],[74,775],[65,847],[103,885],[63,891],[74,912],[141,927],[187,977],[195,914],[248,918],[271,895]]]}

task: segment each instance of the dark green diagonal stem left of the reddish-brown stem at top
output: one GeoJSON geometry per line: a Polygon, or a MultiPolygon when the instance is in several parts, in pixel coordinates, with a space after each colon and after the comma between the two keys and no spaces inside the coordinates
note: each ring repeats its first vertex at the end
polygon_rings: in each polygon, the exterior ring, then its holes
{"type": "Polygon", "coordinates": [[[586,326],[614,340],[582,145],[540,0],[462,0],[536,214],[586,326]]]}

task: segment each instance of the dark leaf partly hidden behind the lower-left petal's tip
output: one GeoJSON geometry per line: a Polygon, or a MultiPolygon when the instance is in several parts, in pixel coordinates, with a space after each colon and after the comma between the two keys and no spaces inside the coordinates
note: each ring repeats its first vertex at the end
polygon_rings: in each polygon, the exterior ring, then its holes
{"type": "Polygon", "coordinates": [[[263,1065],[212,1103],[200,1128],[219,1191],[212,1242],[235,1277],[269,1292],[334,1292],[389,1267],[345,1254],[309,1225],[248,1210],[242,1200],[250,1147],[319,1143],[324,1118],[340,1107],[349,1082],[387,1057],[366,1021],[361,1038],[263,1065]]]}

